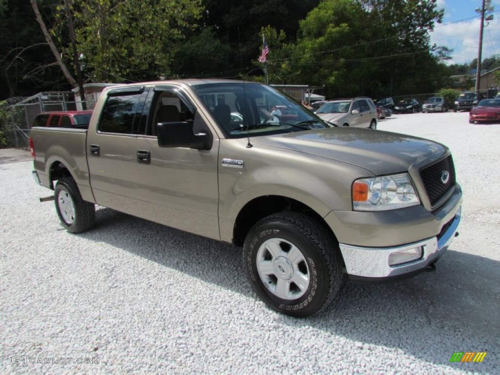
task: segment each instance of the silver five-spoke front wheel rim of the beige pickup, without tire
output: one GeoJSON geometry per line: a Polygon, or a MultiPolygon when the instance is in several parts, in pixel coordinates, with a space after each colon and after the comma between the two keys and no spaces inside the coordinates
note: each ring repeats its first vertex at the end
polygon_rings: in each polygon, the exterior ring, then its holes
{"type": "Polygon", "coordinates": [[[258,248],[256,260],[260,279],[278,298],[299,298],[309,287],[307,262],[293,243],[283,238],[268,239],[258,248]]]}

